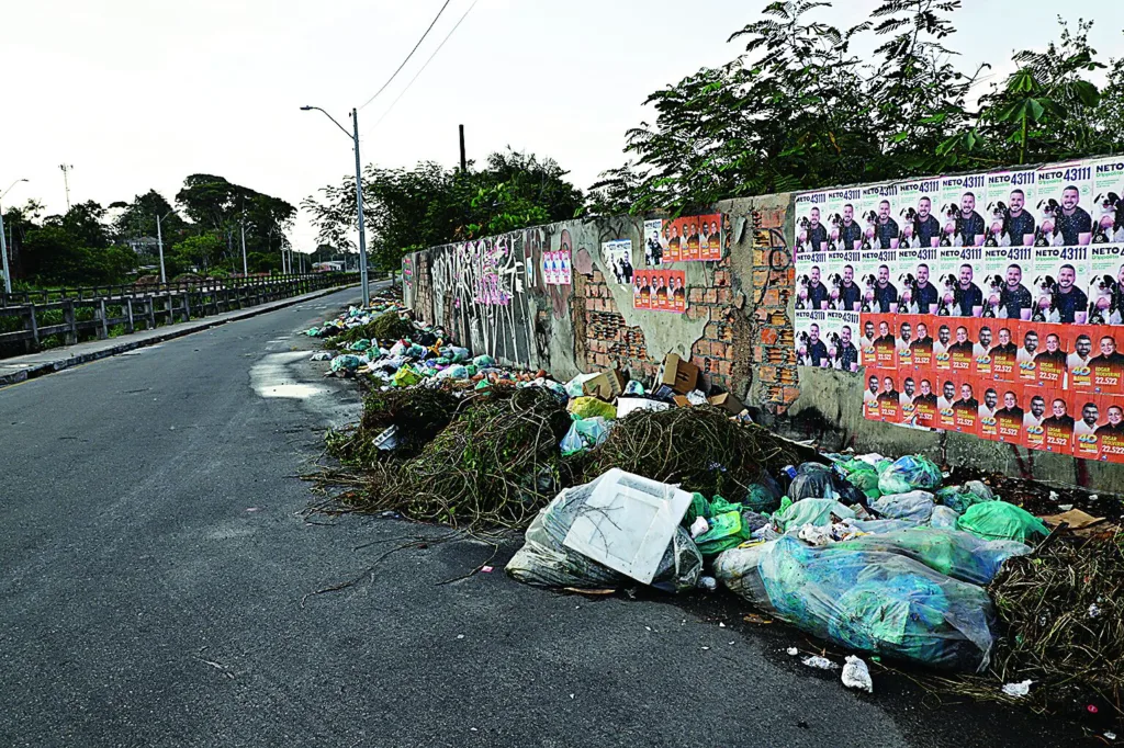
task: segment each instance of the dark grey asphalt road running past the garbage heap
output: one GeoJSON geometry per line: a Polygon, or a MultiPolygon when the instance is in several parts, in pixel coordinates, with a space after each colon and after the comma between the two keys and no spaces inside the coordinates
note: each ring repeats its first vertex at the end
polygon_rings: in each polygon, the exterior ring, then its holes
{"type": "Polygon", "coordinates": [[[297,332],[354,297],[0,390],[0,745],[1080,739],[880,673],[873,695],[847,691],[783,653],[813,642],[743,622],[728,595],[535,590],[501,573],[516,541],[493,573],[439,584],[492,548],[398,520],[307,522],[296,476],[359,402],[297,332]]]}

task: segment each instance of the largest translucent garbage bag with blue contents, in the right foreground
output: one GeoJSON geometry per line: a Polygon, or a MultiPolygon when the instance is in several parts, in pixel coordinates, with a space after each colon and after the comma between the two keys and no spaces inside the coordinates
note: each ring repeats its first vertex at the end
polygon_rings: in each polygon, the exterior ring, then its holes
{"type": "Polygon", "coordinates": [[[819,548],[791,536],[732,548],[715,576],[804,631],[839,645],[943,669],[987,666],[995,613],[982,587],[906,556],[819,548]]]}

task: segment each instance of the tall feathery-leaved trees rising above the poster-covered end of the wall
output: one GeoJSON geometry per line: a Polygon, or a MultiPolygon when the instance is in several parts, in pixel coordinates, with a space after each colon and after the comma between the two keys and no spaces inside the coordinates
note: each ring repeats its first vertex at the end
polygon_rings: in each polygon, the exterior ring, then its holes
{"type": "Polygon", "coordinates": [[[1124,150],[1124,66],[1103,67],[1091,22],[979,95],[990,65],[955,64],[960,0],[883,0],[849,28],[828,2],[771,2],[731,40],[744,53],[652,93],[625,135],[629,161],[592,186],[597,213],[682,212],[723,198],[1124,150]],[[873,47],[870,54],[856,49],[873,47]],[[978,100],[977,100],[978,97],[978,100]],[[1115,118],[1115,119],[1114,119],[1115,118]]]}

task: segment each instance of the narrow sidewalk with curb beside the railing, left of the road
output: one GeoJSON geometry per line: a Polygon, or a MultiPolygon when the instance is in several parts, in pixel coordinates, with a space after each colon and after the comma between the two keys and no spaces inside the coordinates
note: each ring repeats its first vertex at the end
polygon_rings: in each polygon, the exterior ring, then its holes
{"type": "MultiPolygon", "coordinates": [[[[371,285],[372,288],[377,288],[379,284],[372,283],[371,285]]],[[[218,327],[219,325],[226,325],[227,322],[234,322],[239,319],[247,319],[250,317],[256,317],[257,314],[264,314],[277,309],[292,307],[293,304],[299,304],[312,299],[319,299],[320,297],[338,293],[352,288],[357,288],[357,285],[345,285],[328,289],[326,291],[315,291],[312,293],[306,293],[301,297],[271,301],[257,307],[251,307],[250,309],[239,309],[237,311],[214,314],[211,317],[191,320],[190,322],[165,325],[163,327],[157,327],[154,330],[142,330],[134,332],[133,335],[123,335],[118,338],[91,340],[89,343],[80,343],[75,346],[51,348],[49,350],[44,350],[42,353],[3,358],[0,359],[0,387],[9,384],[16,384],[17,382],[22,382],[36,376],[42,376],[43,374],[61,372],[64,368],[78,366],[79,364],[85,364],[91,361],[98,361],[99,358],[106,358],[107,356],[116,356],[117,354],[133,350],[135,348],[143,348],[145,346],[155,345],[165,340],[172,340],[173,338],[180,338],[184,335],[199,332],[200,330],[218,327]]]]}

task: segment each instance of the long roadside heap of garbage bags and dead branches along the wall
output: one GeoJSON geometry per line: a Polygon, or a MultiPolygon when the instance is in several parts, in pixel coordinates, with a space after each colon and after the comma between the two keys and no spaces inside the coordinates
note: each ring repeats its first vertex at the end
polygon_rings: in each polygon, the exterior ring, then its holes
{"type": "Polygon", "coordinates": [[[351,468],[335,476],[343,510],[525,528],[507,572],[536,586],[690,594],[717,580],[837,647],[967,674],[946,676],[961,687],[1031,679],[1120,704],[1117,545],[1072,572],[1076,538],[995,481],[950,480],[923,455],[817,454],[673,355],[653,381],[558,381],[379,303],[318,328],[338,352],[328,368],[366,390],[361,422],[329,435],[351,468]]]}

